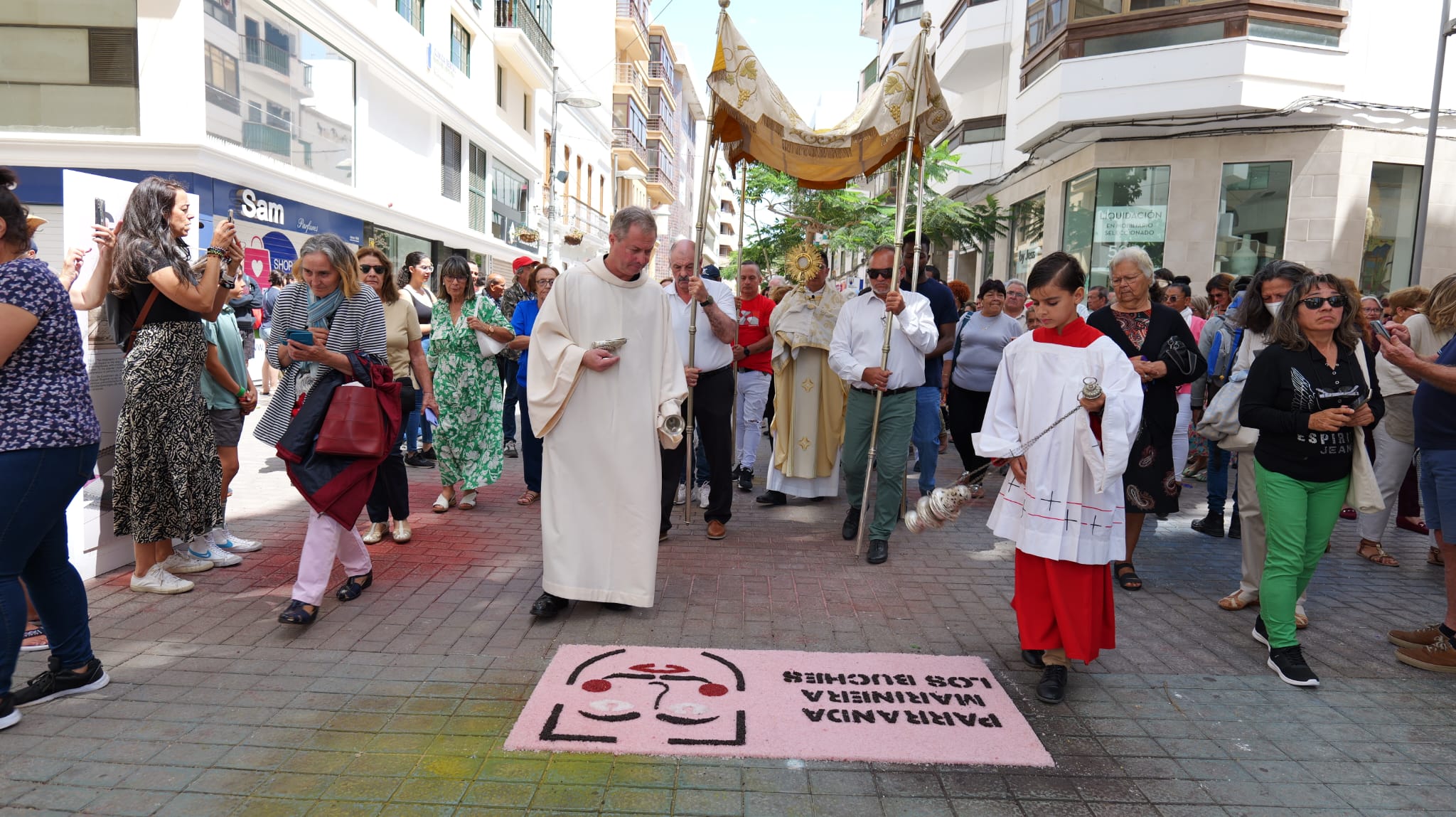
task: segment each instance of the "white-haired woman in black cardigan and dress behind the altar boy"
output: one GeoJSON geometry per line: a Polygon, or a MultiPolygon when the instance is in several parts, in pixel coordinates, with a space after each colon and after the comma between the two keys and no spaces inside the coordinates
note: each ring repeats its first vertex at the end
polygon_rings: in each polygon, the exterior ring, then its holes
{"type": "Polygon", "coordinates": [[[1143,380],[1143,424],[1123,475],[1127,561],[1114,562],[1112,572],[1123,590],[1142,590],[1133,549],[1143,532],[1143,517],[1178,513],[1182,492],[1169,446],[1178,417],[1178,387],[1197,380],[1207,363],[1182,315],[1155,303],[1155,269],[1147,252],[1136,246],[1118,250],[1108,268],[1114,300],[1093,312],[1088,325],[1121,347],[1143,380]]]}

